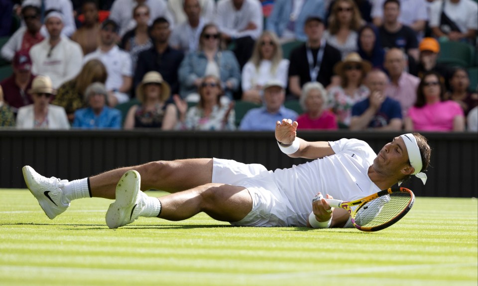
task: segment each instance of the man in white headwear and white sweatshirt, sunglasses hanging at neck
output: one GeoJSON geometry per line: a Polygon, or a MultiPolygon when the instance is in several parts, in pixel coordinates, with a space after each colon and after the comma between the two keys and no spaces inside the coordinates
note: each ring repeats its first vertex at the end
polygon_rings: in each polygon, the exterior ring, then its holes
{"type": "Polygon", "coordinates": [[[34,75],[49,76],[53,88],[73,79],[81,70],[83,51],[80,45],[61,34],[63,15],[52,11],[45,16],[49,38],[30,49],[31,72],[34,75]]]}

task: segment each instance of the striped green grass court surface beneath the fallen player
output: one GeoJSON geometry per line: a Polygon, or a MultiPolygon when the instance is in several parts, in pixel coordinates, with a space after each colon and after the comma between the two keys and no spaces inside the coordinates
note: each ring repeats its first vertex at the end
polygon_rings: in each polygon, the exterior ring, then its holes
{"type": "Polygon", "coordinates": [[[363,233],[231,227],[204,214],[183,222],[141,218],[110,230],[104,222],[110,200],[74,201],[64,214],[49,220],[28,191],[0,191],[0,198],[1,209],[12,211],[0,216],[1,285],[66,285],[65,281],[68,285],[476,285],[478,281],[478,207],[472,199],[417,197],[399,223],[363,233]]]}

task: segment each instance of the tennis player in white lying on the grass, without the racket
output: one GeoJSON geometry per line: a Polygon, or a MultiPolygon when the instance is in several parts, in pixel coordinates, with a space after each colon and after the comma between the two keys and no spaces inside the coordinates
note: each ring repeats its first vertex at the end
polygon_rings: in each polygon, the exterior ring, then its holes
{"type": "Polygon", "coordinates": [[[107,213],[110,228],[139,216],[184,220],[199,212],[240,226],[352,227],[346,210],[332,209],[327,198],[354,200],[385,190],[411,175],[422,179],[430,162],[427,139],[418,134],[393,138],[378,153],[357,139],[307,142],[296,137],[297,122],[277,121],[275,137],[290,157],[317,159],[289,169],[267,171],[259,164],[224,159],[156,161],[119,168],[68,182],[45,178],[29,166],[23,177],[46,215],[53,219],[70,201],[84,197],[116,199],[107,213]],[[171,194],[150,197],[140,190],[171,194]],[[314,221],[315,220],[315,221],[314,221]]]}

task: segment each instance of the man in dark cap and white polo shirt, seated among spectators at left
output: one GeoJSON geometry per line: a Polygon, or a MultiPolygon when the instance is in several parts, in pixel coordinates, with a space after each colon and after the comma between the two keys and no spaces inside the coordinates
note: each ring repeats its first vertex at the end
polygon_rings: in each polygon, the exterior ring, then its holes
{"type": "Polygon", "coordinates": [[[100,46],[86,55],[83,64],[91,59],[99,59],[106,67],[108,78],[105,86],[108,91],[108,103],[116,106],[129,100],[132,84],[131,56],[116,45],[119,26],[113,20],[102,23],[100,46]]]}

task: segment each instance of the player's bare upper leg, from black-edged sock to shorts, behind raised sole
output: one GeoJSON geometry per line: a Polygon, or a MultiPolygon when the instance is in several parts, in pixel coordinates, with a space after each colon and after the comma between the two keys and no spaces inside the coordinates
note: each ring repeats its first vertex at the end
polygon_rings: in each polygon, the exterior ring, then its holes
{"type": "Polygon", "coordinates": [[[141,190],[176,192],[211,183],[213,160],[202,158],[155,161],[111,170],[90,177],[92,196],[114,199],[115,187],[119,179],[129,170],[136,170],[140,174],[141,190]]]}

